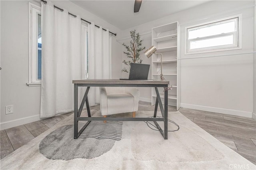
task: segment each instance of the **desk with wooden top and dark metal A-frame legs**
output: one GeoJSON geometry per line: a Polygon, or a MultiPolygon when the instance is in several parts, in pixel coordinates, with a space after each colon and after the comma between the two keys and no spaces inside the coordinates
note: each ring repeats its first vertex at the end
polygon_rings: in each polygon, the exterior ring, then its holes
{"type": "MultiPolygon", "coordinates": [[[[169,81],[161,80],[119,80],[119,79],[85,79],[73,80],[74,84],[74,139],[84,131],[91,121],[153,121],[164,139],[168,139],[168,90],[164,91],[164,107],[158,92],[158,87],[168,87],[169,81]],[[81,105],[78,109],[78,87],[87,87],[81,105]],[[154,117],[91,117],[88,102],[88,92],[90,87],[154,87],[156,90],[156,105],[154,109],[154,117]],[[86,103],[88,117],[80,117],[82,109],[86,103]],[[162,117],[156,117],[158,104],[162,113],[162,117]],[[84,127],[78,132],[78,121],[87,121],[84,127]],[[164,122],[164,131],[158,125],[157,121],[164,122]]],[[[164,88],[163,88],[164,90],[164,88]]]]}

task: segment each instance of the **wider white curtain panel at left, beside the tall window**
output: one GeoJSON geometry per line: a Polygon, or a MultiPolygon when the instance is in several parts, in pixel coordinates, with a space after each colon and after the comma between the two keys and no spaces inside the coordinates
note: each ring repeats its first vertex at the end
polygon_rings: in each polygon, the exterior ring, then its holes
{"type": "Polygon", "coordinates": [[[41,3],[42,91],[40,117],[74,110],[72,80],[82,79],[81,18],[41,3]]]}

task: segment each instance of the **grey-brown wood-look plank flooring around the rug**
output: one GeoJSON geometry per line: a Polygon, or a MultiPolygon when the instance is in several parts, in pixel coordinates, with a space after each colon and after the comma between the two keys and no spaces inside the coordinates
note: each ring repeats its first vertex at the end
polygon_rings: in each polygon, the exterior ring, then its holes
{"type": "MultiPolygon", "coordinates": [[[[92,106],[90,109],[100,110],[100,106],[92,106]]],[[[140,101],[139,110],[154,111],[154,106],[151,106],[151,103],[140,101]]],[[[160,111],[159,107],[158,110],[160,111]]],[[[176,111],[176,108],[168,106],[168,111],[176,111]]],[[[256,164],[255,120],[252,118],[186,108],[180,108],[179,111],[196,125],[217,138],[220,142],[224,143],[250,162],[256,164]]],[[[1,159],[71,114],[72,113],[66,113],[64,115],[1,130],[1,159]]]]}

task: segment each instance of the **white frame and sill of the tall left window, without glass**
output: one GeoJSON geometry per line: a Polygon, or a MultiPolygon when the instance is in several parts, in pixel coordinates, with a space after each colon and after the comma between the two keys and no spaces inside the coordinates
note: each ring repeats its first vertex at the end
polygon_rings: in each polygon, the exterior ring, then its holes
{"type": "Polygon", "coordinates": [[[41,86],[41,80],[37,79],[38,57],[38,14],[41,7],[28,2],[28,83],[31,86],[41,86]]]}

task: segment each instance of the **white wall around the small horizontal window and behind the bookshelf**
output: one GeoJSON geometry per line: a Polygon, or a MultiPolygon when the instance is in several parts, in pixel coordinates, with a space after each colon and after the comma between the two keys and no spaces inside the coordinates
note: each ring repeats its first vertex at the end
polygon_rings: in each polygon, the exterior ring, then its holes
{"type": "MultiPolygon", "coordinates": [[[[136,29],[140,34],[151,28],[178,21],[181,25],[181,58],[212,56],[253,51],[254,1],[211,1],[122,31],[136,29]],[[244,8],[244,9],[242,9],[244,8]],[[184,27],[242,14],[242,49],[214,53],[184,55],[184,27]]],[[[151,46],[151,34],[142,36],[146,48],[151,46]]],[[[123,48],[123,50],[125,50],[123,48]]],[[[123,55],[125,59],[126,56],[123,55]]],[[[144,59],[145,61],[146,59],[144,59]]],[[[144,94],[143,94],[144,93],[144,94]]],[[[150,89],[142,97],[150,98],[150,89]]],[[[182,107],[252,117],[253,111],[253,55],[181,60],[182,107]]]]}

